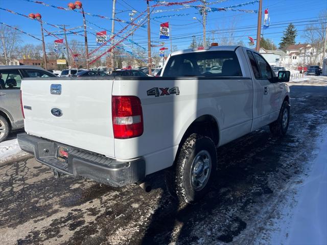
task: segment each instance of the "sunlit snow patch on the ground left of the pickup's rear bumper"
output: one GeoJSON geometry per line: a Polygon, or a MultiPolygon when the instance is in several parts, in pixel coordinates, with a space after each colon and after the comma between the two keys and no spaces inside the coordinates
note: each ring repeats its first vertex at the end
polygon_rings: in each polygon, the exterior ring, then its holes
{"type": "Polygon", "coordinates": [[[6,140],[0,143],[0,166],[31,156],[19,148],[17,139],[6,140]]]}

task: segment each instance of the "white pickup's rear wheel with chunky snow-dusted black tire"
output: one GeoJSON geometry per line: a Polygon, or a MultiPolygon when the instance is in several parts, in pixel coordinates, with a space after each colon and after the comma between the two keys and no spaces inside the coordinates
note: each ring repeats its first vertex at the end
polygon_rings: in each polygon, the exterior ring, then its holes
{"type": "Polygon", "coordinates": [[[191,134],[181,146],[176,160],[174,188],[180,204],[197,202],[208,192],[216,166],[214,141],[206,136],[191,134]]]}

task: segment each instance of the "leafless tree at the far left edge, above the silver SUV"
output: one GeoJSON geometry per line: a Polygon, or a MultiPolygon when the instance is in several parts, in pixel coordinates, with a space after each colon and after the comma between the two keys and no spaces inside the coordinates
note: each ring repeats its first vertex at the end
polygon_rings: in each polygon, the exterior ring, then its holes
{"type": "Polygon", "coordinates": [[[1,25],[0,27],[0,55],[4,56],[5,64],[8,65],[8,61],[14,58],[14,53],[18,54],[16,48],[21,42],[21,33],[15,29],[1,25]]]}

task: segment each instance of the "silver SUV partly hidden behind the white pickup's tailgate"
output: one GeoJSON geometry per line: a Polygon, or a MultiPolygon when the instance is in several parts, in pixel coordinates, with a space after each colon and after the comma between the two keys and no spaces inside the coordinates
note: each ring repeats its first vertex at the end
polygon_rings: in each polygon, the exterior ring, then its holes
{"type": "Polygon", "coordinates": [[[21,80],[46,77],[56,76],[32,65],[0,66],[0,142],[10,131],[24,128],[19,99],[21,80]]]}

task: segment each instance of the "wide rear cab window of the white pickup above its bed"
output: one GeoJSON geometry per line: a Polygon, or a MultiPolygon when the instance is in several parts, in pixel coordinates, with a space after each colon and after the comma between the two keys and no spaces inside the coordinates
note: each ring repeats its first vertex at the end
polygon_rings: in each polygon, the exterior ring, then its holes
{"type": "Polygon", "coordinates": [[[163,77],[242,77],[234,51],[206,51],[172,56],[163,77]]]}

